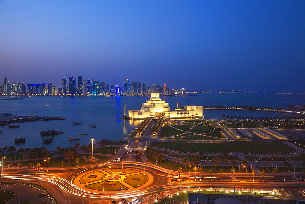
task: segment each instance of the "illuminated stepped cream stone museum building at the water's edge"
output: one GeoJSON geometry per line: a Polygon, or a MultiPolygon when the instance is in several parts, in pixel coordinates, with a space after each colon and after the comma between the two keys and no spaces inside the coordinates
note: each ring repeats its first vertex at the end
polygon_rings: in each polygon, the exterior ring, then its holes
{"type": "Polygon", "coordinates": [[[202,106],[186,105],[184,109],[170,110],[168,103],[160,99],[159,93],[152,93],[149,100],[142,103],[141,110],[128,111],[131,119],[154,117],[164,115],[165,118],[190,118],[192,115],[203,116],[202,106]]]}

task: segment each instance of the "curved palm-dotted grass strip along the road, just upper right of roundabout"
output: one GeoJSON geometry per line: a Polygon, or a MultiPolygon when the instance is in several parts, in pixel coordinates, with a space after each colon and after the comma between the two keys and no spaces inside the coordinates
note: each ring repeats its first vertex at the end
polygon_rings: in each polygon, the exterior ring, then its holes
{"type": "MultiPolygon", "coordinates": [[[[147,159],[150,163],[152,163],[153,165],[156,165],[156,160],[150,158],[150,156],[146,155],[146,159],[147,159]]],[[[211,162],[207,162],[207,165],[208,165],[209,163],[211,163],[211,162]]],[[[227,165],[228,165],[228,164],[227,164],[227,165]]],[[[185,168],[185,166],[184,166],[184,165],[182,166],[180,162],[174,162],[174,161],[171,161],[171,160],[168,160],[168,159],[165,159],[164,161],[159,162],[159,163],[157,164],[157,166],[160,166],[160,167],[165,168],[165,169],[172,169],[173,171],[177,171],[178,167],[181,167],[181,168],[182,168],[182,171],[184,171],[184,172],[189,172],[189,166],[188,166],[188,165],[187,165],[186,168],[185,168]]],[[[195,172],[194,169],[193,169],[193,167],[194,167],[194,165],[191,165],[191,172],[195,172]]],[[[229,171],[230,171],[230,168],[231,168],[231,167],[232,167],[232,166],[226,166],[226,169],[225,169],[224,173],[230,173],[229,171]]],[[[224,166],[220,166],[220,167],[219,167],[219,166],[216,166],[216,169],[214,168],[214,166],[206,166],[206,169],[205,169],[205,162],[203,162],[202,168],[203,168],[202,173],[208,173],[208,170],[209,170],[209,169],[213,169],[213,170],[214,170],[214,173],[218,173],[218,172],[219,172],[219,169],[220,169],[220,168],[224,168],[224,166]]],[[[237,169],[237,171],[238,171],[238,168],[235,166],[235,171],[236,171],[236,169],[237,169]]],[[[197,172],[197,174],[200,175],[199,172],[197,172]]],[[[213,176],[213,175],[212,175],[212,176],[213,176]]]]}

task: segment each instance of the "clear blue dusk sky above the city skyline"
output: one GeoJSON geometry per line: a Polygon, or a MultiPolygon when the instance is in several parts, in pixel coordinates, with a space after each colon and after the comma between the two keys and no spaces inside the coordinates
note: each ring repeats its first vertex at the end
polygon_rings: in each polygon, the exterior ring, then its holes
{"type": "Polygon", "coordinates": [[[304,93],[305,1],[0,1],[0,84],[304,93]]]}

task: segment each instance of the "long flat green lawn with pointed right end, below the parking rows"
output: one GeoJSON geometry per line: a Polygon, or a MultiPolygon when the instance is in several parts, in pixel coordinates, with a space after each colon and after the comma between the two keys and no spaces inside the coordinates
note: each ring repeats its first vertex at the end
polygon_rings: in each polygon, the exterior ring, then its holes
{"type": "Polygon", "coordinates": [[[170,142],[157,142],[157,146],[161,145],[163,148],[174,149],[177,151],[189,152],[192,148],[196,152],[221,152],[223,149],[228,152],[243,152],[243,153],[259,153],[261,151],[271,151],[273,153],[287,153],[294,149],[279,141],[272,142],[259,142],[259,141],[237,141],[230,143],[170,143],[170,142]]]}

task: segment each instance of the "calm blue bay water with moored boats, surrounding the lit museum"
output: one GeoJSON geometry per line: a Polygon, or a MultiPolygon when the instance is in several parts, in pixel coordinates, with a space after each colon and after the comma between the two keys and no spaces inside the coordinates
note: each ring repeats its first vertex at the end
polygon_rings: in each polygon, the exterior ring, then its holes
{"type": "MultiPolygon", "coordinates": [[[[2,97],[7,98],[7,97],[2,97]]],[[[27,98],[27,97],[26,97],[27,98]]],[[[171,108],[183,105],[245,105],[245,106],[268,106],[286,107],[290,104],[304,104],[305,94],[229,94],[209,93],[197,94],[197,96],[161,97],[169,103],[171,108]]],[[[102,138],[117,141],[132,130],[139,121],[124,121],[115,119],[122,117],[123,105],[127,110],[139,110],[141,103],[149,97],[32,97],[27,100],[0,100],[0,112],[12,113],[13,115],[38,115],[64,117],[66,120],[34,121],[16,123],[19,128],[8,128],[0,126],[0,146],[15,145],[20,147],[41,147],[55,150],[57,146],[70,147],[80,142],[82,145],[89,144],[91,138],[101,140],[102,138]],[[48,105],[48,107],[41,107],[48,105]],[[72,121],[83,121],[81,125],[73,125],[72,121]],[[96,125],[92,129],[89,125],[96,125]],[[53,137],[53,142],[47,144],[42,141],[39,132],[42,130],[61,130],[65,134],[53,137]],[[79,136],[79,133],[88,136],[79,136]],[[15,144],[17,137],[26,138],[25,143],[15,144]],[[81,140],[68,141],[69,137],[81,140]]],[[[222,115],[252,116],[252,117],[282,117],[286,114],[264,112],[264,111],[222,111],[205,110],[206,118],[221,118],[222,115]]]]}

